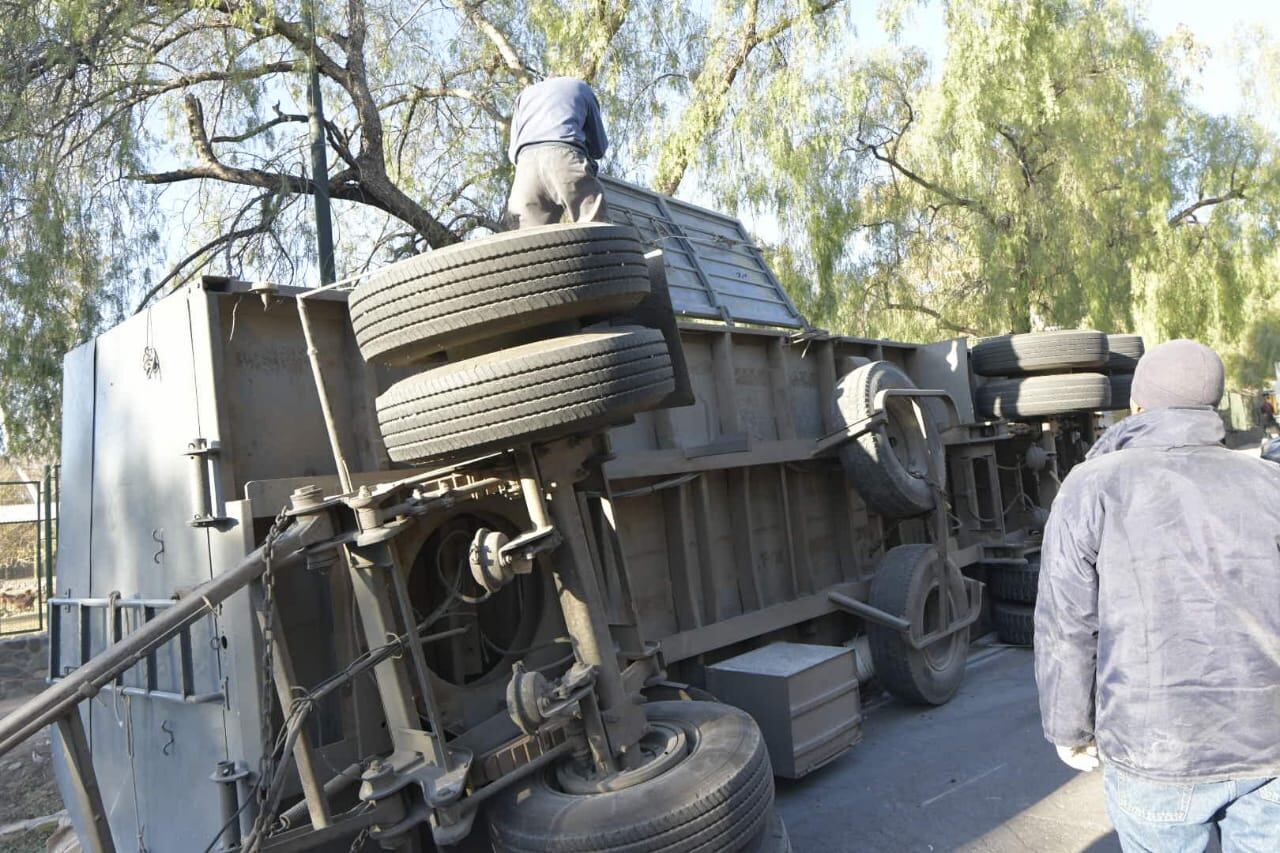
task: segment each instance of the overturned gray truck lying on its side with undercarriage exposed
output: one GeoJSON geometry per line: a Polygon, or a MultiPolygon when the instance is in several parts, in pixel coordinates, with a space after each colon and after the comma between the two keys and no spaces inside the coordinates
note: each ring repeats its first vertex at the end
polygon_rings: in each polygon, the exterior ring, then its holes
{"type": "Polygon", "coordinates": [[[773,775],[860,739],[860,683],[956,692],[1053,432],[609,190],[67,356],[51,685],[0,752],[54,726],[86,849],[785,850],[773,775]]]}

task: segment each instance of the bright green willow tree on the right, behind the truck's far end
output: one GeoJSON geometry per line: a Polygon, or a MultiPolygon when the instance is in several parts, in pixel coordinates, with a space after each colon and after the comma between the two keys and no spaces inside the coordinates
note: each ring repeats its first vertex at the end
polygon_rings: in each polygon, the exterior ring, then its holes
{"type": "Polygon", "coordinates": [[[1236,341],[1275,287],[1277,145],[1193,105],[1190,38],[1108,0],[951,3],[945,20],[941,68],[891,49],[791,92],[788,114],[837,127],[754,128],[764,156],[737,183],[787,213],[776,260],[817,319],[1236,341]]]}

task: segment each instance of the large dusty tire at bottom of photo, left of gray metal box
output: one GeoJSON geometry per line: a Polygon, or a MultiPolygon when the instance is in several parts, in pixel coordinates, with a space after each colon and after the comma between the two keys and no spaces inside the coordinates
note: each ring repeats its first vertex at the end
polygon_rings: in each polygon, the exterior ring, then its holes
{"type": "Polygon", "coordinates": [[[489,804],[493,849],[709,853],[742,850],[767,831],[773,771],[760,729],[745,711],[718,702],[650,702],[645,716],[685,731],[684,760],[635,785],[593,794],[564,793],[554,771],[534,774],[489,804]]]}

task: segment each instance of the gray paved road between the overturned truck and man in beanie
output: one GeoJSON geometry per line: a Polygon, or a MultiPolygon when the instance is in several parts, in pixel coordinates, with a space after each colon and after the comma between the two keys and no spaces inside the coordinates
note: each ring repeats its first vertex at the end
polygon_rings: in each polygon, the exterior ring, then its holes
{"type": "Polygon", "coordinates": [[[1120,849],[1100,774],[1070,770],[1041,735],[1029,649],[975,647],[941,708],[863,701],[863,743],[778,780],[796,853],[1120,849]]]}

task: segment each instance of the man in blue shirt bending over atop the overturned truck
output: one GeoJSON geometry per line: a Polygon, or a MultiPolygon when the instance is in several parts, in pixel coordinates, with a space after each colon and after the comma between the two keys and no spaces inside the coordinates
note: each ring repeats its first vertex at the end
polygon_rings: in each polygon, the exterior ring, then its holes
{"type": "Polygon", "coordinates": [[[609,147],[600,102],[573,77],[534,83],[516,99],[508,155],[516,164],[507,210],[518,228],[604,220],[604,187],[596,177],[609,147]]]}

